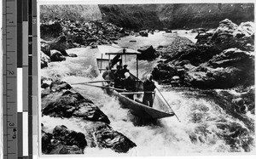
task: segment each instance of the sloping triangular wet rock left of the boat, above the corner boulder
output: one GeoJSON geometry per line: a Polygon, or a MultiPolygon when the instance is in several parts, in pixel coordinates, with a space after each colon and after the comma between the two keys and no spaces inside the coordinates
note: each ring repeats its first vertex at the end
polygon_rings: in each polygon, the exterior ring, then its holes
{"type": "Polygon", "coordinates": [[[90,99],[85,99],[79,93],[64,92],[61,96],[42,105],[42,113],[55,117],[79,117],[84,120],[110,123],[106,116],[90,99]]]}

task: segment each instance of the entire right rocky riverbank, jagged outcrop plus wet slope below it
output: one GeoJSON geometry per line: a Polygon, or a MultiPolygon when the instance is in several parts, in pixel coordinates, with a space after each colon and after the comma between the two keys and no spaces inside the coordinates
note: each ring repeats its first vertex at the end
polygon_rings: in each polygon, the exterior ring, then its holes
{"type": "Polygon", "coordinates": [[[182,44],[161,48],[165,59],[152,71],[154,80],[199,92],[254,132],[248,117],[255,114],[254,31],[253,22],[237,26],[226,19],[215,30],[200,31],[197,43],[177,38],[182,44]]]}

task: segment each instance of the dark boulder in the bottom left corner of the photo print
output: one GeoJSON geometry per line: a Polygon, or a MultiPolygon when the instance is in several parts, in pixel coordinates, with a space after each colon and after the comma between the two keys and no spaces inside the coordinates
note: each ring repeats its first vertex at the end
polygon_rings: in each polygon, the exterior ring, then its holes
{"type": "Polygon", "coordinates": [[[87,145],[84,133],[77,133],[66,126],[56,126],[53,133],[42,131],[44,154],[84,154],[87,145]]]}

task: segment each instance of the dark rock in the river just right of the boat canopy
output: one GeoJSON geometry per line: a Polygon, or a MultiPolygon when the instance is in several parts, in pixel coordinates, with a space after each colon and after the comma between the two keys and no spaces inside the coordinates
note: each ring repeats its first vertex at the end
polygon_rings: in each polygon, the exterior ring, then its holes
{"type": "Polygon", "coordinates": [[[156,54],[156,51],[152,46],[145,46],[139,48],[137,51],[142,53],[137,55],[138,60],[154,60],[159,56],[159,54],[156,54]]]}

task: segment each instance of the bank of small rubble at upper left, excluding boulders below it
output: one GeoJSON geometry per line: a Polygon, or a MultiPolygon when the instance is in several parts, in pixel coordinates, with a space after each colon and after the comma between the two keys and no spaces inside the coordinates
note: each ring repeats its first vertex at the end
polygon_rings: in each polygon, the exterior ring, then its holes
{"type": "Polygon", "coordinates": [[[53,24],[41,24],[41,38],[44,40],[49,37],[66,36],[69,48],[91,46],[96,47],[100,44],[111,44],[120,37],[129,35],[129,32],[124,28],[115,26],[111,23],[102,21],[89,21],[89,22],[72,22],[70,20],[55,20],[53,24]],[[55,26],[55,27],[53,27],[55,26]],[[57,28],[60,31],[52,30],[50,28],[57,28]]]}

